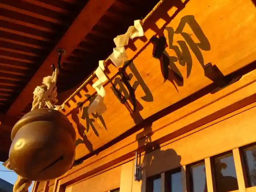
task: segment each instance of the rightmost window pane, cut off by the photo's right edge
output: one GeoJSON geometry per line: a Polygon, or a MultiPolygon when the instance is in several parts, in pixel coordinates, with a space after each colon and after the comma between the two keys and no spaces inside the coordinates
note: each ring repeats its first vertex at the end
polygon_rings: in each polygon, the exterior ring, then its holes
{"type": "Polygon", "coordinates": [[[243,150],[249,187],[256,186],[256,146],[243,150]]]}

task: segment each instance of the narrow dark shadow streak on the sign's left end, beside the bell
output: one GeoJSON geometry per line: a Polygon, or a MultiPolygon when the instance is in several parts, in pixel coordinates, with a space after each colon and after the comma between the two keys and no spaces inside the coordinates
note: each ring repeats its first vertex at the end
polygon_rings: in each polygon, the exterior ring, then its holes
{"type": "MultiPolygon", "coordinates": [[[[87,149],[90,151],[90,152],[93,152],[93,144],[90,142],[90,140],[87,138],[86,136],[86,128],[80,123],[79,121],[79,117],[78,117],[78,114],[79,114],[79,105],[72,109],[69,114],[71,114],[71,118],[72,120],[74,121],[74,123],[76,124],[76,127],[78,129],[78,133],[79,135],[83,138],[83,143],[85,144],[85,146],[87,147],[87,149]]],[[[80,140],[76,141],[76,144],[80,144],[82,143],[80,140]]],[[[77,146],[76,145],[76,146],[77,146]]]]}

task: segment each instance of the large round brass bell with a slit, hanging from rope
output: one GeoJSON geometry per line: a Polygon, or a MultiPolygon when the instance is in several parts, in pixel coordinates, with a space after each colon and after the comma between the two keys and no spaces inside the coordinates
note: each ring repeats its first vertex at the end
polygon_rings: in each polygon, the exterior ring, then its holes
{"type": "Polygon", "coordinates": [[[75,129],[57,110],[42,108],[25,114],[12,128],[11,139],[11,167],[29,180],[60,177],[75,161],[75,129]]]}

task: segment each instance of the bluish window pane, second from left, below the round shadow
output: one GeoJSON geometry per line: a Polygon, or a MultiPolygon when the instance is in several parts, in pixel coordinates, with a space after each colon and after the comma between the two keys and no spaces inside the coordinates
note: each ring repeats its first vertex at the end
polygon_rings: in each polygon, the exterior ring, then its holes
{"type": "Polygon", "coordinates": [[[181,169],[166,173],[166,192],[182,192],[181,169]]]}

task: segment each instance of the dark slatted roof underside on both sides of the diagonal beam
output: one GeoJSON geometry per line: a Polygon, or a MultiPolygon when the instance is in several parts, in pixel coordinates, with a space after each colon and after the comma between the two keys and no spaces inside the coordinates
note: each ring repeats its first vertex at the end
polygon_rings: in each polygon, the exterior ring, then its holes
{"type": "MultiPolygon", "coordinates": [[[[93,1],[97,0],[0,0],[1,114],[8,114],[74,20],[93,1]]],[[[103,2],[105,0],[101,4],[103,2]]],[[[98,61],[106,59],[112,52],[113,38],[124,34],[134,20],[144,18],[157,3],[158,0],[113,0],[113,4],[63,61],[57,82],[58,93],[71,89],[91,74],[98,61]]],[[[66,35],[76,38],[76,33],[66,35]]],[[[72,41],[66,43],[72,44],[72,41]]],[[[56,54],[56,61],[57,57],[56,54]]],[[[17,109],[16,117],[30,111],[32,93],[26,93],[31,98],[30,102],[26,107],[17,109]]],[[[10,131],[0,127],[0,161],[8,158],[10,131]]]]}

